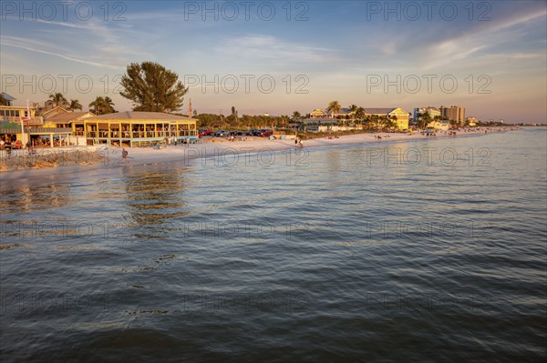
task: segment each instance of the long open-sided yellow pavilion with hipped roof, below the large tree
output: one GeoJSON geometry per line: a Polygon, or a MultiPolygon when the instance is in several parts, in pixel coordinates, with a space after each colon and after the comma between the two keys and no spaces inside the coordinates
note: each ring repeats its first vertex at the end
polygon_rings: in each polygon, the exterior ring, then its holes
{"type": "Polygon", "coordinates": [[[161,112],[117,112],[84,120],[88,145],[150,146],[163,141],[198,139],[197,119],[161,112]]]}

